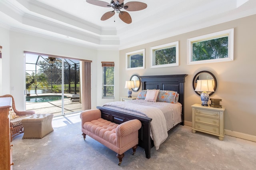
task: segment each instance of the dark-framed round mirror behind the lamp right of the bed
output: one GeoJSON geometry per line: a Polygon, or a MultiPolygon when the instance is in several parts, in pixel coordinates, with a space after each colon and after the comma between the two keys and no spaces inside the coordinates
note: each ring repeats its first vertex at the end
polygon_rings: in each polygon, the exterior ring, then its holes
{"type": "MultiPolygon", "coordinates": [[[[213,89],[216,91],[217,88],[217,80],[216,77],[210,71],[200,71],[196,73],[193,79],[193,89],[196,89],[197,80],[214,80],[213,89]]],[[[200,91],[195,91],[196,94],[201,95],[200,91]]],[[[214,92],[209,93],[209,96],[212,95],[214,92]]]]}

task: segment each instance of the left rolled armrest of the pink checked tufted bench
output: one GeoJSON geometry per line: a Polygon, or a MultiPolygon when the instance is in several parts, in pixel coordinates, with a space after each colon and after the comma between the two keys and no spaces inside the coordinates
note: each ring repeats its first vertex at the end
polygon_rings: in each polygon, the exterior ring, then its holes
{"type": "Polygon", "coordinates": [[[82,127],[84,125],[84,123],[86,122],[90,122],[96,119],[100,119],[101,118],[101,111],[100,109],[91,109],[91,110],[87,110],[87,111],[82,111],[80,113],[80,119],[82,121],[82,127]]]}

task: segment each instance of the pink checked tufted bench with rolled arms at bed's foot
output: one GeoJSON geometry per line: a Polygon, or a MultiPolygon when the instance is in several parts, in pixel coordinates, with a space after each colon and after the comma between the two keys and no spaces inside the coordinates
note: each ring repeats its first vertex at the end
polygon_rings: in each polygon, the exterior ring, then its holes
{"type": "Polygon", "coordinates": [[[126,121],[120,125],[101,118],[99,109],[83,111],[80,114],[82,120],[82,135],[94,138],[101,144],[116,152],[121,164],[124,152],[133,149],[133,154],[138,147],[138,130],[141,122],[137,119],[126,121]]]}

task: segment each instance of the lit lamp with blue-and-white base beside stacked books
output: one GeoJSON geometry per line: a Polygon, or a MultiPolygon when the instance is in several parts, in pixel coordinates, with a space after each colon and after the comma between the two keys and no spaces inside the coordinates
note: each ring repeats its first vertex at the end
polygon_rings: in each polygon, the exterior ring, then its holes
{"type": "Polygon", "coordinates": [[[202,106],[208,106],[209,92],[214,92],[214,80],[197,80],[195,91],[200,91],[202,106]]]}

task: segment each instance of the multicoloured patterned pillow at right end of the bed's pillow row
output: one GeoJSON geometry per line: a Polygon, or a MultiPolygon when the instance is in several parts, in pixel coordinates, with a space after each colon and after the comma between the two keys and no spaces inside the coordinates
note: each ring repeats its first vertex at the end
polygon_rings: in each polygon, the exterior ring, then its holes
{"type": "Polygon", "coordinates": [[[177,93],[177,91],[161,90],[158,93],[158,97],[156,101],[166,102],[166,103],[177,103],[179,99],[178,97],[179,97],[179,94],[177,93]]]}

